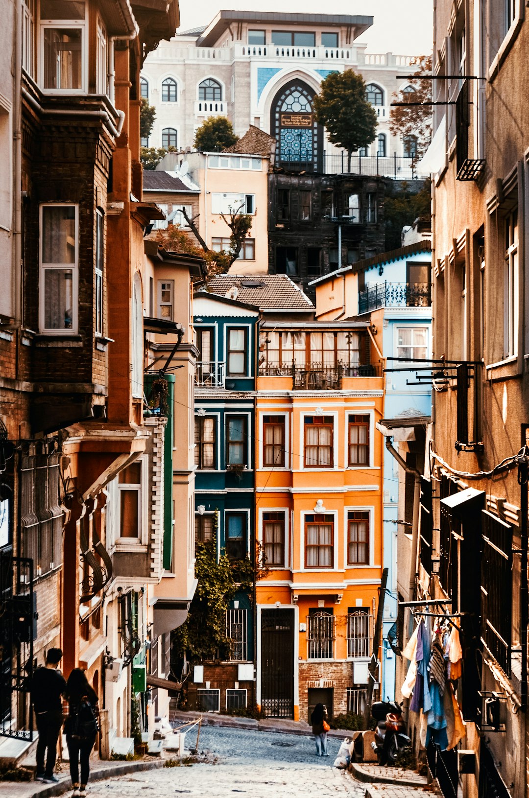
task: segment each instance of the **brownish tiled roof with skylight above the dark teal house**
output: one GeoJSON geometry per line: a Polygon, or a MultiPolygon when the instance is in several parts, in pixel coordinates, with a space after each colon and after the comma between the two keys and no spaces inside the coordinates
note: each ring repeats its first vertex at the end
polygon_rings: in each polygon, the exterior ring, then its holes
{"type": "Polygon", "coordinates": [[[218,275],[207,284],[207,290],[221,296],[232,288],[237,289],[232,298],[262,310],[314,310],[308,296],[286,275],[218,275]]]}

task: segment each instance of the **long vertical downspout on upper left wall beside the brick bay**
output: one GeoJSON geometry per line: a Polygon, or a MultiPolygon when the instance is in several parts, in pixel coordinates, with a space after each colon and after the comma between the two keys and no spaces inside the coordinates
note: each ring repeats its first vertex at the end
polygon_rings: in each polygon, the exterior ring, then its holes
{"type": "MultiPolygon", "coordinates": [[[[22,2],[15,6],[15,63],[13,92],[13,310],[14,322],[22,326],[22,102],[18,87],[22,85],[22,2]]],[[[18,375],[17,375],[18,376],[18,375]]]]}

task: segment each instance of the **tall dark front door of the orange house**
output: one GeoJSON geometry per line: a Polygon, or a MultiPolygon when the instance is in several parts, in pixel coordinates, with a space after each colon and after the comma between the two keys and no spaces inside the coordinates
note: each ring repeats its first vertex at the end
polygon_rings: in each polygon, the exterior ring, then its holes
{"type": "Polygon", "coordinates": [[[261,613],[261,709],[294,717],[294,610],[261,613]]]}

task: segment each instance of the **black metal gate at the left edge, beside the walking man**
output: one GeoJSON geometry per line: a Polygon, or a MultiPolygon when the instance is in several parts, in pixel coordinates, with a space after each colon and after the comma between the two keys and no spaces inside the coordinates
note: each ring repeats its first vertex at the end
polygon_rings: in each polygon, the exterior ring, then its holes
{"type": "Polygon", "coordinates": [[[33,740],[35,598],[33,559],[0,551],[0,736],[27,741],[33,740]]]}

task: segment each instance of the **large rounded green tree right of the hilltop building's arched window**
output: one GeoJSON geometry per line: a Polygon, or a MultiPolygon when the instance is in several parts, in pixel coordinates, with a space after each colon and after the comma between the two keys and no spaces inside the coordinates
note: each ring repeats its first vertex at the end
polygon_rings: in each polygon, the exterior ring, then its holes
{"type": "Polygon", "coordinates": [[[377,113],[365,99],[365,82],[353,69],[331,72],[314,97],[319,124],[325,125],[329,140],[347,151],[347,171],[351,154],[369,147],[377,133],[377,113]]]}

